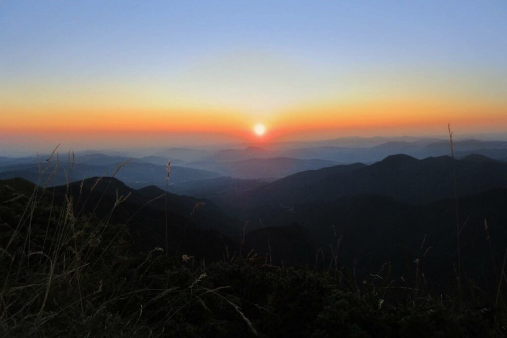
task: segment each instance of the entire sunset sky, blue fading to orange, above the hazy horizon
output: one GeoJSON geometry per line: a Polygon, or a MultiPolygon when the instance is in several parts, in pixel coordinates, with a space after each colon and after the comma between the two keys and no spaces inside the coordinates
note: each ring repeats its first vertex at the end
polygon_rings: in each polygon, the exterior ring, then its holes
{"type": "Polygon", "coordinates": [[[503,0],[2,1],[0,46],[0,147],[507,130],[503,0]]]}

